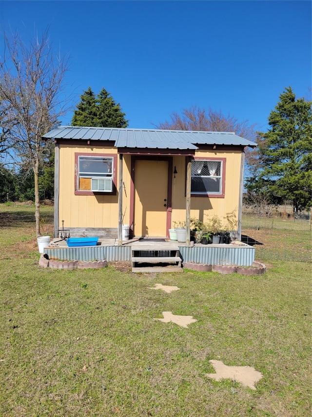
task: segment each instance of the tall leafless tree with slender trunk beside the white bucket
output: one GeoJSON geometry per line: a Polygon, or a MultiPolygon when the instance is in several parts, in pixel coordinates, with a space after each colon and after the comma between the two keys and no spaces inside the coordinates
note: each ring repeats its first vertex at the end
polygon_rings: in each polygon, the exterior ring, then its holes
{"type": "Polygon", "coordinates": [[[0,144],[35,178],[36,234],[40,235],[39,168],[51,151],[42,135],[59,124],[68,110],[64,98],[67,56],[55,55],[48,30],[27,45],[20,36],[4,33],[0,56],[0,144]]]}

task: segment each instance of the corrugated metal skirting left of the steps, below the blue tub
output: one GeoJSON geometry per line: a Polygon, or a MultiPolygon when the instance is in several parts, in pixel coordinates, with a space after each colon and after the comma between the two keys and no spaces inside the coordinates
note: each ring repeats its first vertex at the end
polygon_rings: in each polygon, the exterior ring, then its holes
{"type": "Polygon", "coordinates": [[[131,246],[80,246],[46,248],[49,258],[68,261],[131,261],[131,246]]]}

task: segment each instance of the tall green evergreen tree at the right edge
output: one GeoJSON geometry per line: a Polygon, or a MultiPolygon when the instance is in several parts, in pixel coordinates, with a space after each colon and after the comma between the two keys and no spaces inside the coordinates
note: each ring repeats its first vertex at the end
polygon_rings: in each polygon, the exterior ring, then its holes
{"type": "Polygon", "coordinates": [[[297,211],[312,203],[312,102],[296,99],[291,87],[279,99],[268,118],[271,128],[261,133],[260,179],[269,182],[269,195],[292,201],[297,211]]]}

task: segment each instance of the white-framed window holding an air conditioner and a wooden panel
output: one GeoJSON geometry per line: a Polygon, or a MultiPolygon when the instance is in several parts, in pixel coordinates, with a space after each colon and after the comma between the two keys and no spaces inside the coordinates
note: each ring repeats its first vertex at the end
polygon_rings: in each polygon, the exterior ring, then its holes
{"type": "Polygon", "coordinates": [[[78,190],[112,192],[113,157],[78,156],[78,190]]]}

